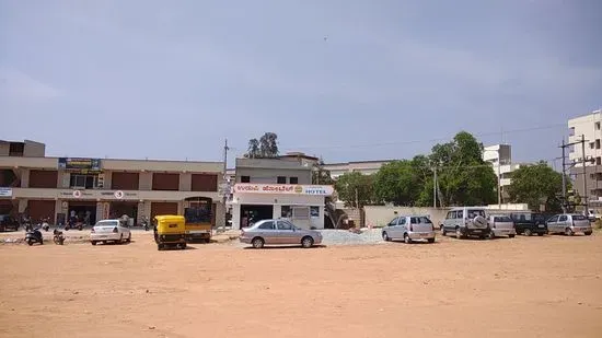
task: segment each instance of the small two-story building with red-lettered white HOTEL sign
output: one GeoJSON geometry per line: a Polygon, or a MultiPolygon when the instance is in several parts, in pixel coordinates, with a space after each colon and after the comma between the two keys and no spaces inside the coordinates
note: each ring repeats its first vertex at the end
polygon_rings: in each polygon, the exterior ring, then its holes
{"type": "Polygon", "coordinates": [[[306,156],[236,159],[232,226],[264,219],[290,219],[301,228],[324,228],[324,199],[332,186],[312,185],[315,161],[306,156]]]}

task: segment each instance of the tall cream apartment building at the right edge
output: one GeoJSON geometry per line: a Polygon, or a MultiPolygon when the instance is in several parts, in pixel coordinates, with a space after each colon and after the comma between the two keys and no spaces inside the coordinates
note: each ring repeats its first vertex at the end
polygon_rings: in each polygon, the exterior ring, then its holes
{"type": "Polygon", "coordinates": [[[568,159],[574,166],[570,174],[574,176],[574,187],[580,196],[588,196],[590,203],[602,202],[602,110],[594,110],[588,115],[568,120],[568,143],[586,140],[584,153],[580,143],[569,148],[568,159]],[[586,184],[583,189],[583,158],[586,164],[586,184]]]}

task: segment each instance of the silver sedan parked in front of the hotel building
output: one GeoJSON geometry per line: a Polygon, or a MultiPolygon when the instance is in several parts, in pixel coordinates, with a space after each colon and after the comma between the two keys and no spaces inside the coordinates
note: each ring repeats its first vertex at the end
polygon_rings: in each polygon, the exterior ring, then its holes
{"type": "Polygon", "coordinates": [[[322,243],[322,233],[301,229],[288,220],[263,220],[242,229],[240,241],[253,245],[254,248],[286,244],[312,247],[322,243]]]}

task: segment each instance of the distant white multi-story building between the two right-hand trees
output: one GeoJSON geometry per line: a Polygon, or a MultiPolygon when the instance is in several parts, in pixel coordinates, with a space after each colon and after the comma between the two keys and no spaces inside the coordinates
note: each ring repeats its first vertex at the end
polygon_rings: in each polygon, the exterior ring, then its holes
{"type": "MultiPolygon", "coordinates": [[[[510,144],[495,144],[483,149],[483,161],[494,167],[494,173],[499,180],[501,198],[507,199],[508,186],[512,183],[512,172],[520,167],[519,163],[512,163],[512,147],[510,144]]],[[[502,201],[503,202],[503,201],[502,201]]]]}

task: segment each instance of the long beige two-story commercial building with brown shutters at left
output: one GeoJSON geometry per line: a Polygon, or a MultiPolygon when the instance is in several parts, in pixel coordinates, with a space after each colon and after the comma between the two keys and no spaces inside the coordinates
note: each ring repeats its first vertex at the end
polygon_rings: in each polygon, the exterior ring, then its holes
{"type": "Polygon", "coordinates": [[[183,214],[212,201],[212,223],[224,223],[219,194],[223,162],[76,159],[45,156],[33,141],[0,141],[0,213],[49,218],[88,214],[90,222],[128,214],[183,214]]]}

